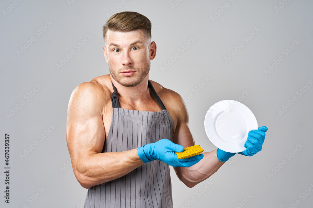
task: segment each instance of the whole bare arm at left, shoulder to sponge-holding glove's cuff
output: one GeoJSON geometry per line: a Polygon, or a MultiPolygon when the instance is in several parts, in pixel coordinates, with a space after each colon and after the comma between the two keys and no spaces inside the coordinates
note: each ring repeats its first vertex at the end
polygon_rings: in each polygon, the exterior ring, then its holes
{"type": "Polygon", "coordinates": [[[101,153],[105,94],[100,93],[105,91],[97,84],[82,83],[69,101],[66,141],[75,177],[84,188],[122,177],[143,164],[137,149],[101,153]]]}

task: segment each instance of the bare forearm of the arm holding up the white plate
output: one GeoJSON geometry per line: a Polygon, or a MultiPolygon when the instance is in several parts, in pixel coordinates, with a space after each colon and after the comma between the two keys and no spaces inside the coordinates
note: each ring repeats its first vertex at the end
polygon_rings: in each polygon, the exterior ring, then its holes
{"type": "Polygon", "coordinates": [[[204,152],[200,162],[191,167],[174,168],[178,178],[188,187],[193,187],[212,176],[225,162],[216,157],[216,150],[204,152]]]}

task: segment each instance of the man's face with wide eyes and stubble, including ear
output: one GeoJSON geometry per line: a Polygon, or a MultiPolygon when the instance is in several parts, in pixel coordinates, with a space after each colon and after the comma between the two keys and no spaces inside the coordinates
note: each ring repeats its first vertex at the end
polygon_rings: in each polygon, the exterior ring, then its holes
{"type": "Polygon", "coordinates": [[[107,31],[106,46],[103,49],[110,75],[116,82],[132,87],[140,84],[148,75],[150,60],[155,57],[155,52],[153,55],[155,43],[150,44],[150,41],[142,30],[107,31]]]}

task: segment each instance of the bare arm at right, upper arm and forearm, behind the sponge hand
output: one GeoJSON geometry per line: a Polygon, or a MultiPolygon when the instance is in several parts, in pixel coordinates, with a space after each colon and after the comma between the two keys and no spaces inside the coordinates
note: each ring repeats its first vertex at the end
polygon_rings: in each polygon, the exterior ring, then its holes
{"type": "MultiPolygon", "coordinates": [[[[177,115],[177,125],[173,142],[184,147],[192,146],[194,145],[194,141],[188,127],[187,107],[178,94],[174,101],[177,103],[175,105],[177,107],[174,109],[175,115],[177,115]]],[[[191,167],[174,167],[177,177],[188,187],[193,187],[201,181],[206,180],[225,163],[218,160],[216,150],[204,152],[203,155],[203,159],[191,167]]]]}

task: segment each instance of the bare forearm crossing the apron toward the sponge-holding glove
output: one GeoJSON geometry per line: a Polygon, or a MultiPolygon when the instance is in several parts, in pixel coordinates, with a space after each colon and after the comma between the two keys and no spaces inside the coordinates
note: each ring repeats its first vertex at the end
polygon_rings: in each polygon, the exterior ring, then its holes
{"type": "Polygon", "coordinates": [[[85,160],[80,159],[73,169],[80,184],[84,188],[90,188],[122,177],[142,164],[137,149],[132,149],[125,152],[90,154],[85,160]]]}

